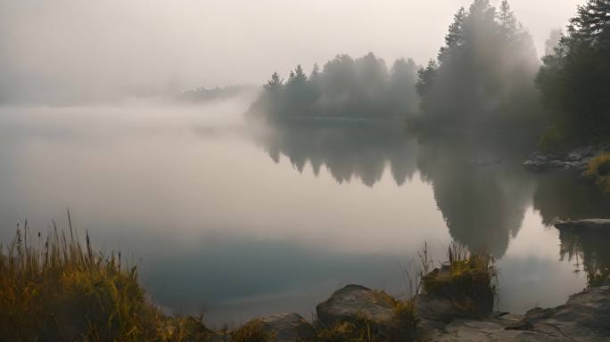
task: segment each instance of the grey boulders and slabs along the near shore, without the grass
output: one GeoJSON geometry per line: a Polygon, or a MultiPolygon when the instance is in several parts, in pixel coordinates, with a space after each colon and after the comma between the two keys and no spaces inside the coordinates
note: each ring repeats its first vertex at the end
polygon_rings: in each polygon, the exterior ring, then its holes
{"type": "Polygon", "coordinates": [[[565,305],[534,308],[524,315],[490,313],[484,318],[468,319],[455,313],[448,315],[454,308],[441,299],[425,303],[416,305],[420,322],[416,335],[408,339],[388,338],[395,329],[392,298],[359,285],[339,289],[317,305],[317,322],[307,322],[299,314],[275,315],[260,321],[274,342],[316,341],[319,329],[362,320],[370,322],[375,340],[380,341],[610,341],[610,286],[586,289],[570,297],[565,305]]]}

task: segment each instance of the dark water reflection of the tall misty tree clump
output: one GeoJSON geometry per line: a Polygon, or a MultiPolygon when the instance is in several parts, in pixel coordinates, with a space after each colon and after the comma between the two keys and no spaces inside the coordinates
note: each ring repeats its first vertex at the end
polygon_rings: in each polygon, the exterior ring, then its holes
{"type": "Polygon", "coordinates": [[[490,143],[425,142],[418,167],[454,240],[503,256],[515,237],[533,184],[514,151],[490,143]]]}

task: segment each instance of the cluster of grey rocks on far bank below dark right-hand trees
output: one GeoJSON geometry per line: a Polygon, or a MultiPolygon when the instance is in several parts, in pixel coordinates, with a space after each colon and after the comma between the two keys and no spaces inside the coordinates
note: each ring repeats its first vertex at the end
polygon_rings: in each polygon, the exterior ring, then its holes
{"type": "Polygon", "coordinates": [[[599,151],[600,149],[598,148],[587,146],[561,154],[534,152],[525,160],[523,166],[535,171],[548,169],[573,169],[582,171],[587,168],[589,161],[591,161],[599,151]]]}

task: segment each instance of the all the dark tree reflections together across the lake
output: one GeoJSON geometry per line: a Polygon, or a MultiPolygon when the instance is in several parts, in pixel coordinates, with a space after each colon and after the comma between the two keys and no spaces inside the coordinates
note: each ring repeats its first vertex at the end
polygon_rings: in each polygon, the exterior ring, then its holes
{"type": "MultiPolygon", "coordinates": [[[[416,142],[400,122],[393,121],[302,120],[263,132],[258,141],[276,162],[284,155],[299,172],[309,163],[315,175],[326,167],[339,183],[358,178],[373,186],[388,167],[401,185],[419,171],[432,186],[451,237],[471,250],[486,250],[497,257],[506,253],[532,205],[547,225],[556,219],[610,214],[610,198],[586,180],[567,172],[525,170],[522,161],[529,150],[512,142],[416,142]]],[[[589,243],[573,243],[565,234],[560,238],[562,257],[599,255],[589,243]]],[[[598,269],[594,265],[609,265],[599,260],[586,268],[594,272],[598,269]]]]}

